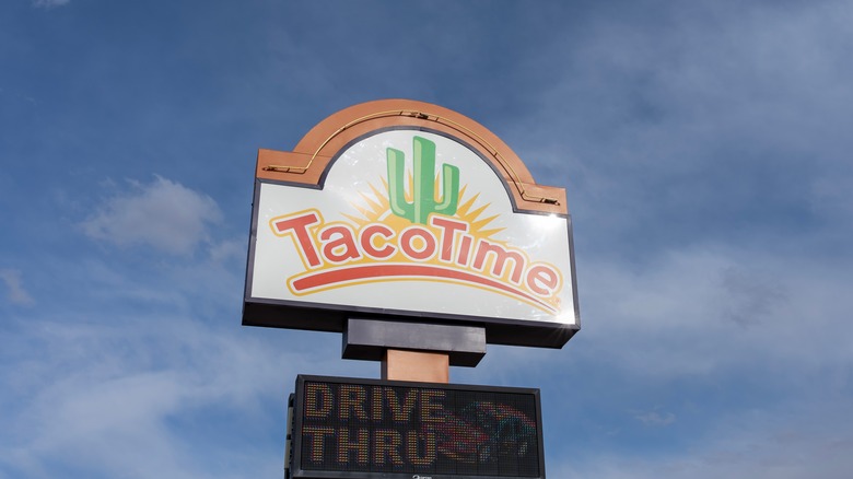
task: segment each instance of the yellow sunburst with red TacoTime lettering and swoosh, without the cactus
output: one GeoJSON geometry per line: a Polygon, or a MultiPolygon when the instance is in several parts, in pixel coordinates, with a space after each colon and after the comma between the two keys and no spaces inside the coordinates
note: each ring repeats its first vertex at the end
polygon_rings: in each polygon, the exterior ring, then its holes
{"type": "MultiPolygon", "coordinates": [[[[432,214],[424,223],[394,214],[388,182],[369,184],[341,212],[347,221],[324,223],[318,210],[270,220],[279,236],[291,236],[306,271],[288,279],[295,295],[381,281],[434,281],[464,284],[528,303],[550,314],[560,309],[562,274],[552,265],[495,236],[504,227],[488,215],[490,202],[459,188],[453,215],[432,214]],[[311,227],[308,227],[311,225],[311,227]]],[[[439,178],[435,178],[435,189],[439,178]]],[[[404,200],[412,202],[412,178],[404,200]]]]}

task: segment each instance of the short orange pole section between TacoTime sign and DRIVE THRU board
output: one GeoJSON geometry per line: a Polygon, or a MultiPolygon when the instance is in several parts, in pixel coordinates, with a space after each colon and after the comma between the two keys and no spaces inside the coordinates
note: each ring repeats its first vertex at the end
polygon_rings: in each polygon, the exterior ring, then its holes
{"type": "Polygon", "coordinates": [[[443,352],[389,349],[385,351],[385,358],[382,360],[382,378],[446,384],[451,381],[451,355],[443,352]]]}

